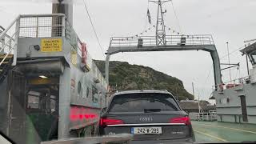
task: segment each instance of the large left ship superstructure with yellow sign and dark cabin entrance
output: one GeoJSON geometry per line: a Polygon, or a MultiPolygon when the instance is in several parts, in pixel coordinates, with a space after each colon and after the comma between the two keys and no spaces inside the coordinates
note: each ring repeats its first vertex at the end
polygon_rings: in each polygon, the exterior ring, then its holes
{"type": "Polygon", "coordinates": [[[69,11],[19,15],[0,33],[0,127],[14,142],[95,135],[107,84],[69,11]]]}

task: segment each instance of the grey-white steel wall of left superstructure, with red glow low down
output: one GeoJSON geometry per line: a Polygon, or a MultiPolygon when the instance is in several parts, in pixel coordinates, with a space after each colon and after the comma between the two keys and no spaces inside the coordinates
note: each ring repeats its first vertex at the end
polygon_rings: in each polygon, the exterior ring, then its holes
{"type": "MultiPolygon", "coordinates": [[[[70,130],[95,125],[102,107],[106,106],[106,82],[100,70],[87,55],[86,64],[90,70],[82,70],[82,53],[78,45],[71,45],[62,39],[61,51],[34,50],[40,46],[42,38],[18,38],[18,59],[64,58],[64,71],[59,82],[59,122],[58,138],[70,138],[70,130]],[[98,80],[98,82],[96,82],[98,80]]],[[[51,39],[51,38],[45,38],[51,39]]]]}

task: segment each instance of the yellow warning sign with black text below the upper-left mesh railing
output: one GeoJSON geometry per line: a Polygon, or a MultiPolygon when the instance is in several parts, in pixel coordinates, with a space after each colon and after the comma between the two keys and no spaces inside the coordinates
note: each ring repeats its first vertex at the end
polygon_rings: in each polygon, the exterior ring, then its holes
{"type": "Polygon", "coordinates": [[[41,51],[42,52],[62,51],[62,38],[42,38],[41,51]]]}

